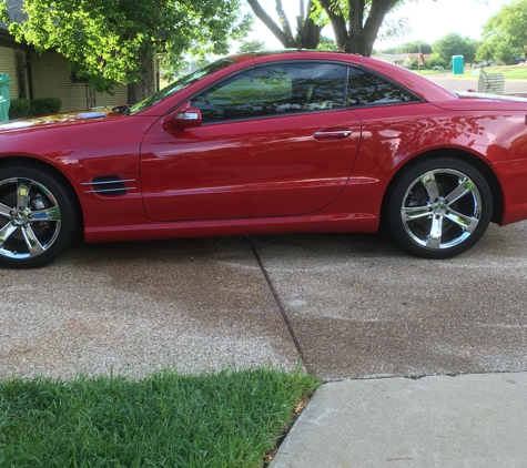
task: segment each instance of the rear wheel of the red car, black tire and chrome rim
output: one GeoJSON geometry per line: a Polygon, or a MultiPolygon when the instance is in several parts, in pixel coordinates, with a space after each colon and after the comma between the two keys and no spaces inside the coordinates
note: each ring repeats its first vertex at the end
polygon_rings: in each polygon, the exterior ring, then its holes
{"type": "Polygon", "coordinates": [[[424,160],[401,172],[386,194],[389,232],[425,258],[448,258],[475,245],[493,215],[483,174],[454,157],[424,160]]]}

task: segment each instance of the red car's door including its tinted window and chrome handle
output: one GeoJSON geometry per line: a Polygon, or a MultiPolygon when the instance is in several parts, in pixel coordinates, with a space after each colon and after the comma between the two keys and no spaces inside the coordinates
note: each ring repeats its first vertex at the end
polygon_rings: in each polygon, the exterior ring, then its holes
{"type": "Polygon", "coordinates": [[[153,221],[312,213],[344,189],[361,136],[344,106],[347,68],[287,62],[251,68],[192,98],[203,124],[154,125],[141,149],[153,221]]]}

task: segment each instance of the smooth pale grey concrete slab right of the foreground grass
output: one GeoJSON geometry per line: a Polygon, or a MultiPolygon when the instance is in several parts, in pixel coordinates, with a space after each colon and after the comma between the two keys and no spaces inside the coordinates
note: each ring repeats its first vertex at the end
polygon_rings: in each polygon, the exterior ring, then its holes
{"type": "Polygon", "coordinates": [[[271,468],[525,467],[527,373],[323,385],[271,468]]]}

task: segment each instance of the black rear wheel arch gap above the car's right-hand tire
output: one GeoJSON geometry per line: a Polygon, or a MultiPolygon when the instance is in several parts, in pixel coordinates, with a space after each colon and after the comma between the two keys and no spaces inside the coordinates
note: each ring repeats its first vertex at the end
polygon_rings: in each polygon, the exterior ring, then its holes
{"type": "Polygon", "coordinates": [[[383,222],[383,220],[386,218],[385,211],[386,211],[386,205],[387,205],[387,197],[389,196],[389,193],[392,192],[392,187],[396,184],[401,175],[404,174],[404,172],[406,172],[409,167],[416,164],[419,164],[423,161],[430,160],[434,157],[440,157],[440,156],[456,157],[460,161],[464,161],[465,163],[473,165],[483,174],[493,194],[493,217],[490,221],[493,223],[499,224],[504,214],[504,194],[503,194],[501,185],[499,183],[498,177],[496,176],[491,167],[484,160],[482,160],[480,157],[476,156],[473,153],[469,153],[463,150],[457,150],[457,149],[440,149],[440,150],[427,151],[425,153],[419,154],[418,156],[413,157],[412,160],[407,161],[405,164],[399,166],[395,175],[389,181],[384,192],[383,202],[382,202],[382,211],[381,211],[382,213],[381,222],[383,222]]]}

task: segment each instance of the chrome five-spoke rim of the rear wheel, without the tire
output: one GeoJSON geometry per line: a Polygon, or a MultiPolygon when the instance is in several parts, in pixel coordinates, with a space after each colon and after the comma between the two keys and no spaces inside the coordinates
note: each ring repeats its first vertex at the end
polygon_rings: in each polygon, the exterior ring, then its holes
{"type": "Polygon", "coordinates": [[[436,169],[412,182],[401,217],[415,243],[427,248],[449,248],[476,230],[482,217],[482,195],[466,174],[436,169]]]}

